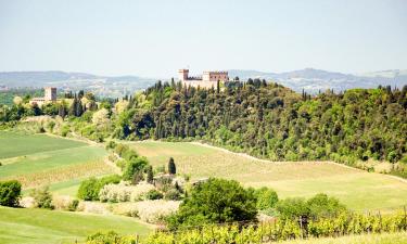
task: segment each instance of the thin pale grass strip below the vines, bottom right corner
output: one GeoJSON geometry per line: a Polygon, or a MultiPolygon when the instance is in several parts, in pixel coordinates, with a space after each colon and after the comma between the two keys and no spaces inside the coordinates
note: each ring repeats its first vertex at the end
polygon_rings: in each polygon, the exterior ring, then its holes
{"type": "Polygon", "coordinates": [[[407,243],[407,233],[381,233],[348,235],[342,237],[321,237],[280,242],[280,244],[403,244],[407,243]]]}

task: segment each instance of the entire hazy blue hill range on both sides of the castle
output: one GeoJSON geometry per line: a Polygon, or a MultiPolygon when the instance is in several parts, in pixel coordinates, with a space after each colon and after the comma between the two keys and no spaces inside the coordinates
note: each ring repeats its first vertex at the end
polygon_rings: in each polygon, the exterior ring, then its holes
{"type": "MultiPolygon", "coordinates": [[[[379,85],[402,88],[407,85],[407,70],[390,69],[365,74],[343,74],[315,68],[285,73],[230,69],[229,77],[241,80],[260,78],[274,80],[295,91],[308,93],[333,89],[376,88],[379,85]]],[[[119,98],[152,86],[157,79],[139,76],[98,76],[65,72],[3,72],[0,73],[0,90],[8,88],[42,88],[53,86],[61,90],[87,90],[99,97],[119,98]]]]}

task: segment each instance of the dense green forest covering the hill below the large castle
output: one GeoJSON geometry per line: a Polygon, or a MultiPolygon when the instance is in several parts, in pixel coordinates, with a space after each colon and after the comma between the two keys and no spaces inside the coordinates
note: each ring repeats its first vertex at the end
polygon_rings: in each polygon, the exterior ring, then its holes
{"type": "Polygon", "coordinates": [[[407,87],[310,97],[258,79],[209,90],[157,82],[129,100],[116,137],[198,138],[272,160],[395,163],[406,153],[407,87]]]}

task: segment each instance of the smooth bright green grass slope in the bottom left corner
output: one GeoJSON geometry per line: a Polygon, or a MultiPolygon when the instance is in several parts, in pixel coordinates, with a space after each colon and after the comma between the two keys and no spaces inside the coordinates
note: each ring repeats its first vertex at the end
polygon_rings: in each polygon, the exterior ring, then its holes
{"type": "Polygon", "coordinates": [[[0,243],[75,243],[98,231],[145,235],[152,229],[130,217],[0,207],[0,243]]]}

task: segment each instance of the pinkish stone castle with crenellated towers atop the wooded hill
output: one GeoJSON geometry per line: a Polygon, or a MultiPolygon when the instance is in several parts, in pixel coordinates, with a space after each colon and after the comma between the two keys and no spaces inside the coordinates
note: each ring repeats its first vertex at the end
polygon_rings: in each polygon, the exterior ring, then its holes
{"type": "Polygon", "coordinates": [[[204,72],[202,76],[189,76],[189,69],[178,69],[178,77],[186,86],[212,88],[217,81],[228,81],[228,72],[204,72]]]}

